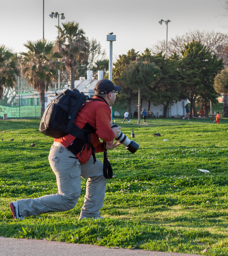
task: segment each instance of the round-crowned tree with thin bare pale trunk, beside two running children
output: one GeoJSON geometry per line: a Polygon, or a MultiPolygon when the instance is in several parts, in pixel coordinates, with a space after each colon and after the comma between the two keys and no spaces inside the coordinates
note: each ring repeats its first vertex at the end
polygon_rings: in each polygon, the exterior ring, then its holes
{"type": "Polygon", "coordinates": [[[149,88],[157,82],[160,74],[160,69],[154,64],[143,62],[138,58],[136,61],[132,61],[128,64],[120,76],[120,80],[125,87],[131,88],[134,93],[138,91],[138,124],[140,124],[141,91],[143,91],[143,93],[148,92],[149,88]]]}

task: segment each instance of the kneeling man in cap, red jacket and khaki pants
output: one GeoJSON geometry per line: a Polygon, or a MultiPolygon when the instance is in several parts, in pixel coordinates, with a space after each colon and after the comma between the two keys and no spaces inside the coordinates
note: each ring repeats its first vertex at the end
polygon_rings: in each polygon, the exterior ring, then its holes
{"type": "Polygon", "coordinates": [[[85,103],[78,111],[75,124],[79,128],[90,125],[96,131],[91,133],[91,146],[78,151],[78,141],[70,134],[55,139],[51,146],[48,160],[55,173],[58,193],[40,198],[21,199],[10,203],[14,219],[23,219],[31,215],[48,212],[62,212],[73,209],[81,194],[81,177],[88,178],[84,205],[79,219],[102,218],[99,209],[103,206],[107,179],[103,175],[103,164],[95,159],[95,152],[114,149],[120,143],[113,143],[121,127],[111,128],[111,109],[120,87],[108,79],[97,82],[95,96],[99,99],[85,103]],[[106,141],[99,141],[99,138],[106,141]]]}

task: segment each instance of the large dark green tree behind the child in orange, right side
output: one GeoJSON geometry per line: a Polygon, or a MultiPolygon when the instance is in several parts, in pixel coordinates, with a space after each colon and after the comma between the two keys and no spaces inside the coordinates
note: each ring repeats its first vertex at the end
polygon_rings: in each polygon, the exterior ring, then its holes
{"type": "Polygon", "coordinates": [[[194,40],[185,45],[181,54],[182,86],[191,102],[190,114],[197,117],[196,98],[201,96],[205,103],[212,99],[213,93],[215,94],[212,86],[214,78],[223,67],[223,62],[222,59],[218,61],[216,55],[212,55],[204,45],[194,40]]]}

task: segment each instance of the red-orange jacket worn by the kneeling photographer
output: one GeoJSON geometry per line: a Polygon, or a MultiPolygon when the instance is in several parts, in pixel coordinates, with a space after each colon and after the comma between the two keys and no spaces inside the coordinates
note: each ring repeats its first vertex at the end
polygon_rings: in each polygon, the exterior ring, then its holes
{"type": "MultiPolygon", "coordinates": [[[[79,128],[83,128],[86,123],[92,125],[96,129],[96,133],[91,133],[91,144],[95,148],[96,152],[102,152],[102,142],[114,140],[114,131],[110,126],[111,122],[111,109],[107,103],[99,97],[94,96],[94,99],[101,99],[102,101],[90,101],[83,105],[83,107],[77,112],[75,124],[79,128]]],[[[68,134],[54,141],[61,143],[63,146],[68,147],[75,137],[68,134]]],[[[92,155],[92,149],[85,149],[77,154],[77,158],[82,164],[85,164],[92,155]]]]}

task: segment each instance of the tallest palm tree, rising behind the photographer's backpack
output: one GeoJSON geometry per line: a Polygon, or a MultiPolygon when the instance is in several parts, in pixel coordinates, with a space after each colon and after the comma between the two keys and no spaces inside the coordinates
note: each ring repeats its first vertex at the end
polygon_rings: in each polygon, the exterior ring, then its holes
{"type": "Polygon", "coordinates": [[[67,71],[70,73],[70,89],[74,89],[75,71],[88,60],[89,43],[79,24],[72,22],[62,23],[59,29],[60,36],[56,40],[57,49],[63,56],[67,71]]]}

